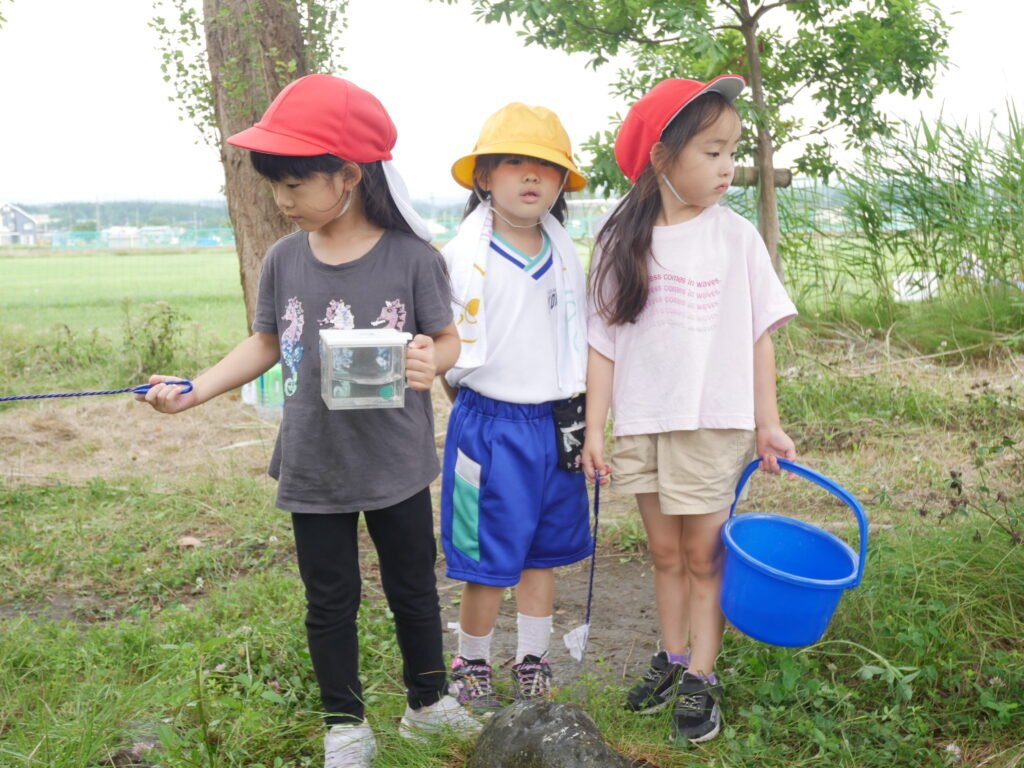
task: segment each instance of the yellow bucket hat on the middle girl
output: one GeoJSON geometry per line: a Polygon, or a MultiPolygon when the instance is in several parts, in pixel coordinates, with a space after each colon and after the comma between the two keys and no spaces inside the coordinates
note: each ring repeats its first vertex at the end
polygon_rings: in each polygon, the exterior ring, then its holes
{"type": "Polygon", "coordinates": [[[540,158],[569,172],[565,180],[566,191],[579,191],[587,185],[587,178],[572,162],[569,135],[558,116],[543,106],[514,101],[487,118],[473,152],[459,158],[452,166],[452,177],[467,189],[473,188],[473,171],[479,155],[540,158]]]}

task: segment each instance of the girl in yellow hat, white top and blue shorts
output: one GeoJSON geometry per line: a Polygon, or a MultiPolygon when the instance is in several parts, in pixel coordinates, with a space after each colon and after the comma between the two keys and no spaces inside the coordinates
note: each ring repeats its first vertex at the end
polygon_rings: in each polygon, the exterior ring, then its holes
{"type": "Polygon", "coordinates": [[[499,708],[490,645],[516,587],[517,698],[547,695],[554,571],[586,558],[581,472],[586,386],[585,279],[562,221],[587,179],[558,117],[511,103],[452,167],[472,194],[444,248],[462,350],[446,375],[455,406],[444,444],[441,539],[464,581],[452,693],[499,708]]]}

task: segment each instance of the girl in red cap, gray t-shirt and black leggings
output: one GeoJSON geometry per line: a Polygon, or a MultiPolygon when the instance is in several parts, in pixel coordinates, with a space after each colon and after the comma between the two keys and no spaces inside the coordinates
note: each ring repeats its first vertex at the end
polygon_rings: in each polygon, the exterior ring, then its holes
{"type": "Polygon", "coordinates": [[[228,143],[251,151],[296,231],[260,276],[253,335],[201,374],[190,392],[154,376],[145,400],[172,414],[279,360],[285,406],[269,474],[292,514],[306,632],[328,732],[326,768],[365,768],[377,751],[358,677],[358,513],[394,614],[408,707],[399,732],[479,724],[445,694],[430,482],[439,466],[430,388],[459,354],[449,280],[391,166],[395,129],[371,93],[328,75],[286,87],[228,143]],[[413,334],[404,408],[331,411],[321,397],[318,329],[386,325],[413,334]]]}

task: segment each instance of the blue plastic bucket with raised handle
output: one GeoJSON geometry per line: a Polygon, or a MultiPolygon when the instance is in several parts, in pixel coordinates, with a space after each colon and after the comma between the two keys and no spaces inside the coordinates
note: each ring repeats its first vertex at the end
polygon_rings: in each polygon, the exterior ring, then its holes
{"type": "Polygon", "coordinates": [[[743,486],[758,468],[743,471],[729,519],[722,526],[725,566],[722,611],[744,635],[770,645],[796,647],[821,639],[843,591],[860,584],[867,556],[867,517],[852,494],[794,462],[779,466],[833,494],[857,516],[860,554],[826,530],[781,515],[736,516],[743,486]]]}

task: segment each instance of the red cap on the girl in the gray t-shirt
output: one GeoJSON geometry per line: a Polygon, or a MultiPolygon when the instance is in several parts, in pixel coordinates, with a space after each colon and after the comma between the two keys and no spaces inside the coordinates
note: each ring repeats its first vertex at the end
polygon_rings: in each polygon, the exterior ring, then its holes
{"type": "Polygon", "coordinates": [[[397,136],[374,94],[333,75],[307,75],[289,83],[256,125],[227,143],[267,155],[373,163],[391,159],[397,136]]]}

